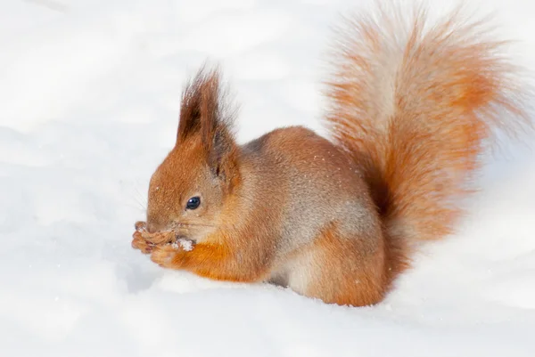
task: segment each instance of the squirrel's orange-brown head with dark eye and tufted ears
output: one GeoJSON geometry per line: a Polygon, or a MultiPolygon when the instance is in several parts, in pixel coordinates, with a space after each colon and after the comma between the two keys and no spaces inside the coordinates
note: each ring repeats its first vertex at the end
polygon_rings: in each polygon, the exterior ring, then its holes
{"type": "Polygon", "coordinates": [[[147,229],[199,240],[214,231],[239,183],[233,113],[225,107],[217,70],[201,70],[185,87],[177,143],[152,174],[147,229]]]}

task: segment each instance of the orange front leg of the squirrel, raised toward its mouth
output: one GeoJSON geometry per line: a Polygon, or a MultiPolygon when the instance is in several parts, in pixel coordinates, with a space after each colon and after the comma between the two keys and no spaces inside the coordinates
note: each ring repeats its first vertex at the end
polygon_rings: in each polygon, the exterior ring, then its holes
{"type": "Polygon", "coordinates": [[[186,270],[214,280],[263,280],[267,273],[265,262],[246,250],[232,247],[232,241],[216,243],[210,239],[195,244],[191,250],[169,244],[153,247],[151,259],[164,268],[186,270]]]}

